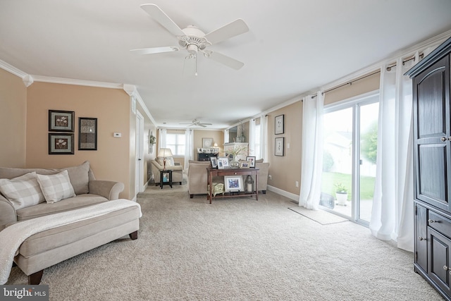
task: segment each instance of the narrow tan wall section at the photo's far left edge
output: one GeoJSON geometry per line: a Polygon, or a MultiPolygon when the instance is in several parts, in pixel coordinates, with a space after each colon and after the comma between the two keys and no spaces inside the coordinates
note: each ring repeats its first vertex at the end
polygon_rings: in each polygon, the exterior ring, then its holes
{"type": "Polygon", "coordinates": [[[0,166],[25,167],[27,87],[0,69],[0,166]]]}

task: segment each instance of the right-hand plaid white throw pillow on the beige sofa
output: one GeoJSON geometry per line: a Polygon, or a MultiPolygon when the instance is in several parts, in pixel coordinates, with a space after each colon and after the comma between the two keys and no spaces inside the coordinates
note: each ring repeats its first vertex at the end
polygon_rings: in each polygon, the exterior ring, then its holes
{"type": "Polygon", "coordinates": [[[61,199],[75,197],[72,184],[70,184],[68,171],[64,170],[55,175],[36,176],[47,203],[56,203],[61,201],[61,199]]]}

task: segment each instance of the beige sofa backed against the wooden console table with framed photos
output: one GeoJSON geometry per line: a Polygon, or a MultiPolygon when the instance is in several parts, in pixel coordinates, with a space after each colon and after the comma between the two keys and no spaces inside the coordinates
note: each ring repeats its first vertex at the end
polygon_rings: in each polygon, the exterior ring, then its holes
{"type": "MultiPolygon", "coordinates": [[[[189,162],[188,168],[188,193],[190,197],[194,195],[206,195],[207,193],[207,173],[206,168],[211,164],[209,161],[192,161],[189,162]]],[[[266,194],[266,186],[268,185],[268,169],[269,163],[263,162],[262,159],[256,161],[256,168],[259,168],[258,190],[266,194]]],[[[255,179],[254,179],[255,180],[255,179]]],[[[214,177],[214,183],[224,183],[224,178],[214,177]]]]}

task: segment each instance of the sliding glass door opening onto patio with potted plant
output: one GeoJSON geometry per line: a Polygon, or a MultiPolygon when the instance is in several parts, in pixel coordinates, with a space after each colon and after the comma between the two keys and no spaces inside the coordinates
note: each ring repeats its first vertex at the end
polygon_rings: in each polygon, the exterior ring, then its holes
{"type": "Polygon", "coordinates": [[[321,208],[369,224],[377,129],[376,94],[325,108],[321,208]]]}

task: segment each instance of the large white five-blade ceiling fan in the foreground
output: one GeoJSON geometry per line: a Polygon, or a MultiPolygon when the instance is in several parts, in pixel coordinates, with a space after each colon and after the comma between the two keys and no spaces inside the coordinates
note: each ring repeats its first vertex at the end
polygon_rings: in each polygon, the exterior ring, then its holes
{"type": "Polygon", "coordinates": [[[180,29],[180,27],[178,27],[166,13],[161,11],[161,8],[155,4],[142,4],[140,7],[158,23],[163,25],[168,32],[171,32],[177,37],[178,46],[132,49],[131,51],[135,51],[138,54],[159,54],[162,52],[173,52],[179,51],[180,49],[186,49],[188,55],[185,57],[185,73],[194,75],[197,75],[197,53],[199,51],[202,52],[206,58],[222,63],[235,70],[238,70],[245,65],[229,56],[207,49],[211,44],[222,42],[225,39],[230,39],[231,37],[249,31],[249,27],[247,27],[244,20],[237,19],[232,23],[205,34],[194,25],[189,25],[185,29],[180,29]]]}

